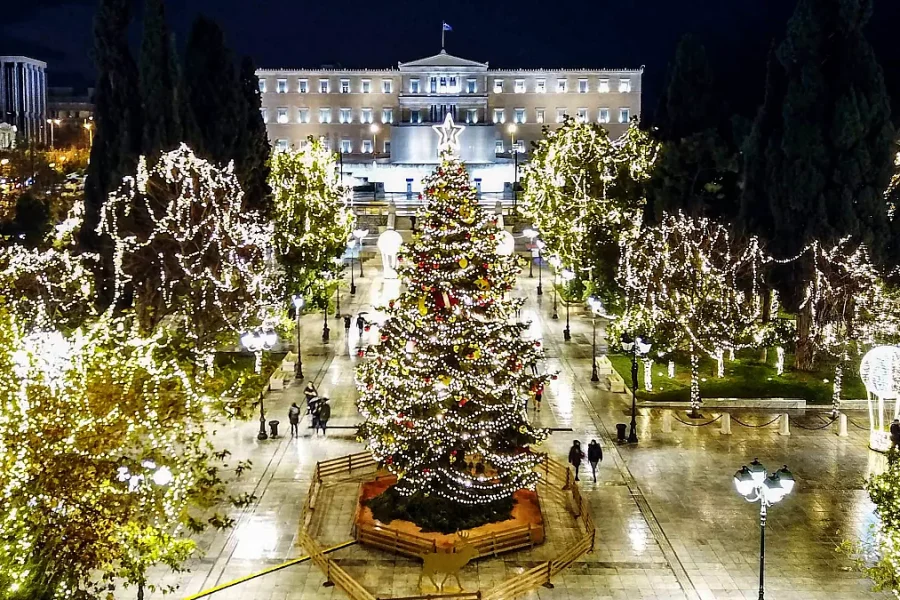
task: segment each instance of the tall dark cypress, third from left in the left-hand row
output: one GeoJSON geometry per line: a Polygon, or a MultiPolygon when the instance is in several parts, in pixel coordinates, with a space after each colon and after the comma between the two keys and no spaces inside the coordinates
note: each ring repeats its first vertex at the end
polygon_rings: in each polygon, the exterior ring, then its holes
{"type": "Polygon", "coordinates": [[[184,82],[191,136],[185,141],[199,156],[224,166],[235,157],[246,119],[225,36],[214,21],[203,16],[194,21],[188,38],[184,82]]]}

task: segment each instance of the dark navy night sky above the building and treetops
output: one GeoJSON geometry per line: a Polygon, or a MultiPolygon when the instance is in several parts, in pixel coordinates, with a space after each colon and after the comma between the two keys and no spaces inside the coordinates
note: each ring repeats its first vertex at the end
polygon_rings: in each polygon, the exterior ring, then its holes
{"type": "MultiPolygon", "coordinates": [[[[0,54],[49,63],[49,85],[93,82],[89,56],[96,0],[11,0],[0,12],[0,54]]],[[[135,0],[140,18],[141,0],[135,0]]],[[[752,114],[761,99],[766,50],[780,39],[793,0],[594,0],[589,2],[399,2],[388,0],[168,0],[179,44],[203,13],[237,54],[261,67],[390,67],[440,50],[441,21],[452,54],[492,67],[646,65],[651,113],[678,38],[697,36],[713,61],[723,98],[752,114]],[[566,10],[554,10],[565,5],[566,10]],[[451,8],[452,7],[452,8],[451,8]]],[[[137,48],[139,26],[133,27],[137,48]]],[[[900,2],[876,0],[869,39],[900,96],[900,2]]],[[[900,116],[900,115],[895,115],[900,116]]]]}

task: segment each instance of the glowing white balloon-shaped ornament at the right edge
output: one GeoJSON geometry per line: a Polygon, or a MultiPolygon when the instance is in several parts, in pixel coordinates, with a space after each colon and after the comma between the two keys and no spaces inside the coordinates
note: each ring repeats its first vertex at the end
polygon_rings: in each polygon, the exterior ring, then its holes
{"type": "Polygon", "coordinates": [[[892,419],[900,414],[900,347],[876,346],[866,352],[859,375],[869,400],[869,447],[885,452],[891,447],[891,436],[885,429],[884,401],[894,400],[892,419]]]}

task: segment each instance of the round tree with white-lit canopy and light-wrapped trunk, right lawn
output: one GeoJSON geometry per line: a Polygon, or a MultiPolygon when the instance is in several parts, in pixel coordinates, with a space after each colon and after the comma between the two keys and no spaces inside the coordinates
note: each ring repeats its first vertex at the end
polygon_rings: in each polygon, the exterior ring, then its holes
{"type": "MultiPolygon", "coordinates": [[[[625,244],[619,282],[626,310],[619,327],[654,336],[691,358],[691,403],[700,403],[698,359],[718,359],[759,317],[756,285],[761,255],[708,219],[664,215],[625,244]]],[[[720,373],[721,375],[721,373],[720,373]]]]}

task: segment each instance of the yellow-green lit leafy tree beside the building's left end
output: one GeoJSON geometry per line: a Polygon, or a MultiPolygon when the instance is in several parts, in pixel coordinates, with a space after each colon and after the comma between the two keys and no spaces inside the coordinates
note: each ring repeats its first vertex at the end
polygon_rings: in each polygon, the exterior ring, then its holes
{"type": "Polygon", "coordinates": [[[347,246],[354,216],[347,208],[334,154],[318,140],[272,155],[275,248],[290,293],[308,293],[347,246]]]}

